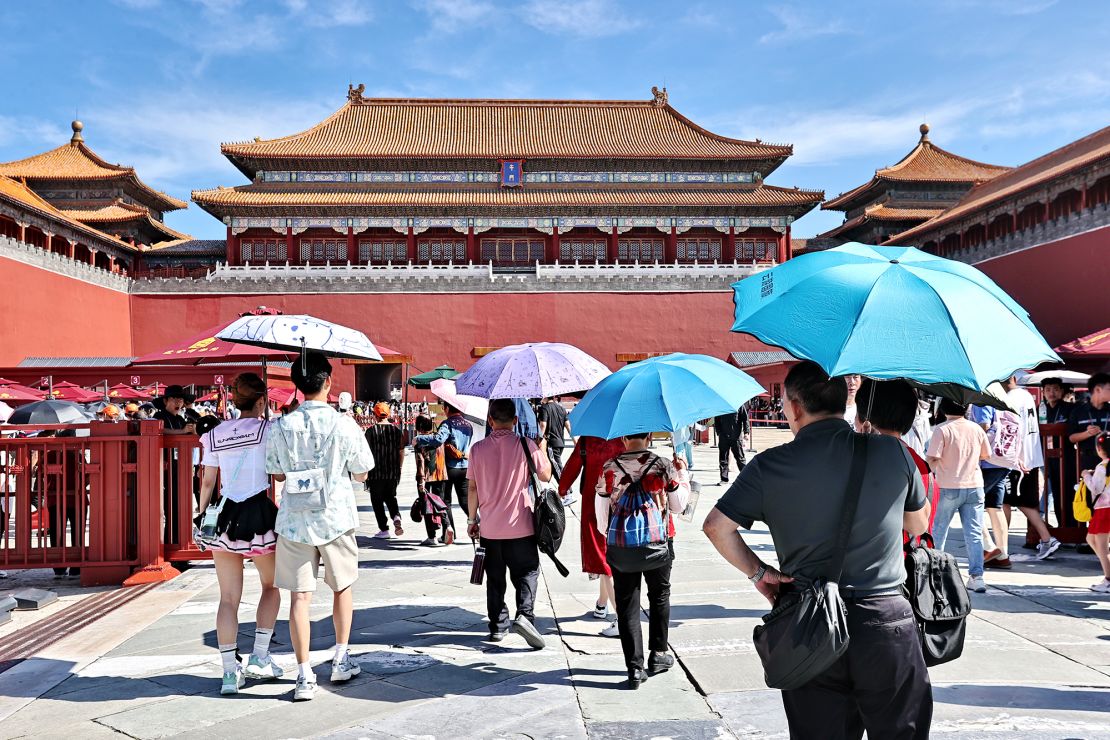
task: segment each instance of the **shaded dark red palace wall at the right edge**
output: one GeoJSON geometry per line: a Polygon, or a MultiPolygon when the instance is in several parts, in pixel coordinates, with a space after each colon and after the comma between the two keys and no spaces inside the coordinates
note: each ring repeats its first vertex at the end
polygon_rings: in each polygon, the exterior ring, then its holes
{"type": "Polygon", "coordinates": [[[1110,326],[1110,227],[976,265],[1025,306],[1052,346],[1110,326]]]}

